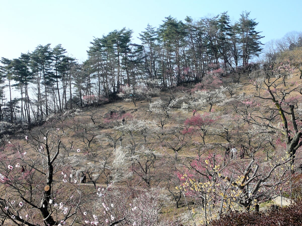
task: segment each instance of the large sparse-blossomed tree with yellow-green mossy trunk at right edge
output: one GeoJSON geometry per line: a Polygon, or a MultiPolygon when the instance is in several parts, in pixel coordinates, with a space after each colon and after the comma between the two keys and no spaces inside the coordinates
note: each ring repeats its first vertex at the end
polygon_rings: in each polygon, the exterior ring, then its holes
{"type": "Polygon", "coordinates": [[[259,110],[251,108],[249,122],[265,127],[267,130],[282,134],[286,144],[286,153],[294,164],[297,150],[302,146],[302,123],[298,105],[300,84],[291,83],[285,86],[288,76],[277,76],[271,82],[253,83],[262,100],[259,110]]]}

